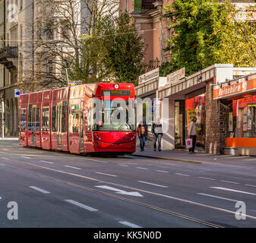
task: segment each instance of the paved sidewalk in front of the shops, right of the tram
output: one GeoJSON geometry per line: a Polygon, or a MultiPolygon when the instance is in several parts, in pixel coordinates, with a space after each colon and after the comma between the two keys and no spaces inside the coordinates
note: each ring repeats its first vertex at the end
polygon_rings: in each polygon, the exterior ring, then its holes
{"type": "Polygon", "coordinates": [[[256,168],[256,156],[232,156],[232,155],[217,155],[198,151],[196,153],[188,153],[181,150],[162,150],[160,152],[146,148],[143,152],[137,147],[137,151],[133,156],[141,156],[151,159],[164,159],[169,161],[177,161],[183,163],[215,163],[229,165],[254,166],[256,168]]]}

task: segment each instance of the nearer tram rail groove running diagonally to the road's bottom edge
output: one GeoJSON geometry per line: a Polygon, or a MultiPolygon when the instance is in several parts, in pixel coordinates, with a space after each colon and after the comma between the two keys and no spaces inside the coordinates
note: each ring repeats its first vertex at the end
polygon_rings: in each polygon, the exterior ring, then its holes
{"type": "MultiPolygon", "coordinates": [[[[137,200],[132,200],[132,199],[129,199],[129,198],[121,197],[119,195],[110,194],[108,192],[100,191],[100,190],[97,190],[97,189],[94,189],[94,188],[87,188],[87,187],[85,187],[83,185],[77,185],[77,184],[75,184],[73,182],[64,181],[62,179],[54,178],[54,177],[49,176],[49,175],[43,175],[43,174],[40,174],[39,172],[31,172],[31,171],[29,171],[27,169],[21,169],[21,168],[18,168],[16,166],[6,165],[6,164],[3,164],[3,163],[1,163],[1,165],[9,167],[11,169],[19,170],[21,172],[26,172],[26,173],[29,173],[31,175],[40,176],[41,178],[48,179],[49,181],[55,181],[55,182],[58,182],[58,183],[62,183],[62,184],[71,186],[73,188],[80,188],[80,189],[82,189],[84,191],[90,191],[90,192],[93,192],[93,193],[96,193],[96,194],[102,194],[102,195],[105,195],[106,197],[112,197],[112,198],[115,198],[115,199],[118,199],[118,200],[122,200],[122,201],[128,202],[130,204],[134,204],[134,205],[141,206],[141,207],[146,207],[147,209],[155,210],[155,211],[160,212],[160,213],[166,213],[169,216],[176,216],[176,217],[179,217],[179,218],[182,218],[182,219],[187,219],[187,220],[189,220],[191,222],[195,222],[195,223],[197,223],[199,225],[207,226],[207,227],[210,227],[210,228],[223,228],[223,226],[219,226],[219,225],[216,225],[216,224],[213,224],[213,223],[210,223],[210,222],[206,222],[206,221],[201,220],[201,219],[195,219],[193,217],[186,216],[186,215],[183,215],[181,213],[175,213],[175,212],[172,212],[170,210],[166,210],[166,209],[163,209],[163,208],[160,208],[160,207],[156,207],[156,206],[153,206],[153,205],[150,205],[150,204],[145,204],[145,203],[142,203],[142,202],[137,201],[137,200]]],[[[95,180],[96,181],[100,181],[100,180],[97,180],[97,179],[95,179],[95,180]]],[[[108,183],[106,181],[103,181],[103,182],[108,183]]]]}

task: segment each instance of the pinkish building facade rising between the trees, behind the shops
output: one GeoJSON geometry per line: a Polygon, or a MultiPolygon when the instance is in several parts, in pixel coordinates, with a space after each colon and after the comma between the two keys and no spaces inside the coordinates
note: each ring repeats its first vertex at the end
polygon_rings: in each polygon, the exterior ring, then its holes
{"type": "Polygon", "coordinates": [[[173,0],[120,0],[121,12],[128,11],[134,17],[137,30],[144,43],[144,62],[147,71],[158,68],[162,62],[169,61],[170,53],[164,52],[165,39],[170,36],[168,23],[163,19],[164,7],[173,0]]]}

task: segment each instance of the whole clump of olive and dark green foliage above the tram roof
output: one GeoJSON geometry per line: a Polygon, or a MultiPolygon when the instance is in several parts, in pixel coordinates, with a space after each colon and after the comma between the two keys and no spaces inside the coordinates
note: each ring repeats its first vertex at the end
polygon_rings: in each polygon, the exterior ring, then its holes
{"type": "Polygon", "coordinates": [[[72,62],[69,72],[72,80],[137,83],[145,67],[143,43],[128,13],[99,18],[82,39],[80,61],[72,62]]]}

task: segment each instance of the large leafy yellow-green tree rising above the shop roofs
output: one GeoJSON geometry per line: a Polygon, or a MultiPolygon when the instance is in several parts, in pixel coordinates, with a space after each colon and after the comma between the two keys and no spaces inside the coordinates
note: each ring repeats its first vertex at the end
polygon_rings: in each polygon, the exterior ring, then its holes
{"type": "Polygon", "coordinates": [[[165,9],[172,57],[161,65],[162,75],[183,67],[190,75],[214,63],[255,64],[254,27],[236,18],[239,11],[229,1],[175,0],[165,9]]]}

